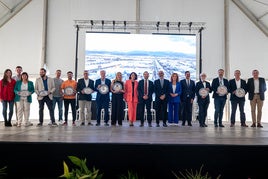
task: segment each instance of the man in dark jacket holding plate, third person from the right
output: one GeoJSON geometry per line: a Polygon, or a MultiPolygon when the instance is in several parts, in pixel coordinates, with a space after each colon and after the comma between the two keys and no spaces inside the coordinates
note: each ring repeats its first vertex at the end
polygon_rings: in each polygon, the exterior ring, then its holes
{"type": "Polygon", "coordinates": [[[228,89],[229,89],[229,82],[227,79],[223,78],[224,70],[218,70],[218,77],[214,78],[212,81],[212,91],[214,98],[214,106],[215,106],[215,113],[214,113],[214,125],[215,127],[224,127],[222,124],[222,117],[223,117],[223,109],[226,103],[228,89]],[[219,124],[219,125],[218,125],[219,124]]]}

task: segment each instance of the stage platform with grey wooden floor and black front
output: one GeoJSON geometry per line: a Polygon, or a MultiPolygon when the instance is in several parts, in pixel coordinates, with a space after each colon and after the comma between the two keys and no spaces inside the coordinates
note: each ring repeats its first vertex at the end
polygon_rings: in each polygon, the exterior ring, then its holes
{"type": "MultiPolygon", "coordinates": [[[[45,121],[48,122],[48,121],[45,121]]],[[[95,121],[93,121],[95,124],[95,121]]],[[[69,155],[87,158],[103,178],[128,170],[143,178],[174,178],[172,171],[208,172],[213,178],[263,178],[268,161],[268,124],[264,128],[193,126],[4,127],[0,124],[0,167],[9,178],[57,178],[69,155]],[[264,163],[264,164],[263,164],[264,163]]],[[[250,123],[248,123],[250,125],[250,123]]]]}

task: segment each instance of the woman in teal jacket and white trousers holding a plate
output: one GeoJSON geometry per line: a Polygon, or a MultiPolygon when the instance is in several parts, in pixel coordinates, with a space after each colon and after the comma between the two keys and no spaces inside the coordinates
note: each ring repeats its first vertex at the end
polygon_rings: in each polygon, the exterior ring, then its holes
{"type": "Polygon", "coordinates": [[[30,116],[30,104],[32,103],[32,94],[34,93],[34,85],[32,81],[28,80],[28,73],[23,72],[21,74],[21,80],[16,82],[15,85],[15,103],[18,108],[18,124],[17,127],[21,126],[24,116],[24,126],[31,126],[29,122],[30,116]]]}

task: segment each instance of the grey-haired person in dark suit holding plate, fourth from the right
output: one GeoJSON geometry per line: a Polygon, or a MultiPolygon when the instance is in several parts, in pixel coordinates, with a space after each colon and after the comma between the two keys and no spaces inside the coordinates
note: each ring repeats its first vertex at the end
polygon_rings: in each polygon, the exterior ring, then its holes
{"type": "Polygon", "coordinates": [[[207,118],[208,106],[210,103],[209,93],[211,93],[211,86],[208,81],[206,81],[207,75],[205,73],[200,74],[200,81],[196,83],[195,93],[197,96],[198,104],[198,121],[200,127],[207,127],[205,121],[207,118]],[[206,91],[202,91],[206,90],[206,91]]]}

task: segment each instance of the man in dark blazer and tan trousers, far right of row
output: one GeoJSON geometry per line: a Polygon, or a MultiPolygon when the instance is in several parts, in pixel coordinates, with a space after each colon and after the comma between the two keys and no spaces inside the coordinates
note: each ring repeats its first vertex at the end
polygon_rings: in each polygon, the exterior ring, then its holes
{"type": "Polygon", "coordinates": [[[264,101],[264,92],[266,91],[266,82],[264,78],[259,77],[259,71],[252,71],[253,78],[249,78],[247,82],[248,99],[250,100],[252,125],[251,127],[263,127],[261,125],[262,106],[264,101]],[[256,117],[257,107],[257,117],[256,117]]]}

